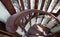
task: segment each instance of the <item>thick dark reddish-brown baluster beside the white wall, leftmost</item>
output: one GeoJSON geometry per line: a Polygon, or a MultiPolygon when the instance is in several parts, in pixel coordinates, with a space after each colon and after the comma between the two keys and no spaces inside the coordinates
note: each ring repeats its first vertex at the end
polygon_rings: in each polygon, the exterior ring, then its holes
{"type": "Polygon", "coordinates": [[[1,2],[4,4],[4,6],[6,7],[6,9],[9,11],[9,13],[11,15],[16,13],[16,11],[11,3],[11,0],[1,0],[1,2]]]}

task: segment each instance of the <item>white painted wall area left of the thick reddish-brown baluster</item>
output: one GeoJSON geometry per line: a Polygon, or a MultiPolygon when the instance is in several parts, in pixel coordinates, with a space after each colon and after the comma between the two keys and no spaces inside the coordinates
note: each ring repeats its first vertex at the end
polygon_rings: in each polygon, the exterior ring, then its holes
{"type": "Polygon", "coordinates": [[[6,23],[9,17],[10,17],[9,12],[7,11],[7,9],[4,7],[4,5],[0,1],[0,21],[6,23]]]}

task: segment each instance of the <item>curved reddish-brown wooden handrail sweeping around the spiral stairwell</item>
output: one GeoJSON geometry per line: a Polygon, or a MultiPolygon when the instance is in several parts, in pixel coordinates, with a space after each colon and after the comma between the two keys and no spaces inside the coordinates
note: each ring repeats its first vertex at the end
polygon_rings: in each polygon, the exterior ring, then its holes
{"type": "MultiPolygon", "coordinates": [[[[25,27],[24,27],[24,23],[21,24],[21,22],[19,20],[22,20],[25,16],[31,14],[31,13],[40,13],[42,15],[49,15],[51,16],[52,18],[54,18],[59,24],[60,24],[60,21],[51,13],[48,13],[48,12],[44,12],[44,11],[41,11],[41,10],[37,10],[37,9],[34,9],[34,10],[25,10],[25,11],[22,11],[21,13],[18,13],[18,14],[14,14],[12,15],[8,20],[7,20],[7,23],[6,23],[6,28],[9,32],[11,33],[15,33],[18,26],[20,26],[24,31],[25,31],[25,27]]],[[[36,16],[34,16],[36,17],[36,16]]],[[[31,18],[32,19],[32,18],[31,18]]],[[[27,21],[26,21],[27,22],[27,21]]],[[[27,22],[28,23],[28,22],[27,22]]],[[[25,31],[26,32],[26,31],[25,31]]]]}

